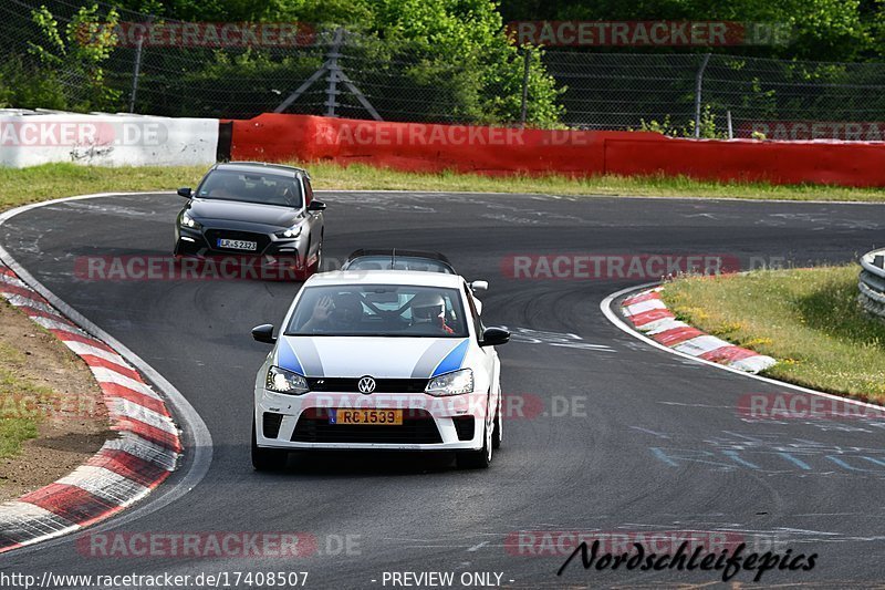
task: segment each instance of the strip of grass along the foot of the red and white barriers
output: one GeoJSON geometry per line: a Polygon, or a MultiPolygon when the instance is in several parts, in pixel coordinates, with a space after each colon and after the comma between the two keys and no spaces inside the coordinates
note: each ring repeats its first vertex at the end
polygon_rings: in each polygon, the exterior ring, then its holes
{"type": "MultiPolygon", "coordinates": [[[[634,195],[788,200],[885,201],[885,189],[832,186],[772,186],[753,183],[712,183],[685,177],[481,176],[476,174],[413,174],[354,164],[302,164],[317,189],[476,190],[545,193],[554,195],[634,195]]],[[[165,190],[194,186],[205,167],[121,167],[46,164],[31,168],[0,168],[0,209],[85,193],[165,190]]]]}

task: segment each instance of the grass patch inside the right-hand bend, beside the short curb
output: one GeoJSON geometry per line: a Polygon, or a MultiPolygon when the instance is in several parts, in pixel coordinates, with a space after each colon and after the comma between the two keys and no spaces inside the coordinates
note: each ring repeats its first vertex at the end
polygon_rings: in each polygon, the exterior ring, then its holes
{"type": "Polygon", "coordinates": [[[767,376],[885,402],[885,322],[858,306],[857,265],[683,277],[665,286],[679,319],[773,356],[767,376]]]}

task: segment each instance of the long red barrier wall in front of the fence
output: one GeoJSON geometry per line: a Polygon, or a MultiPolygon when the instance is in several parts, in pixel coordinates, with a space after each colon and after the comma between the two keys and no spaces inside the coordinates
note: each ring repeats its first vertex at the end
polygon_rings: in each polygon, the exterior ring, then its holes
{"type": "Polygon", "coordinates": [[[409,172],[620,174],[885,186],[885,143],[674,139],[656,133],[469,127],[263,114],[233,121],[233,159],[409,172]]]}

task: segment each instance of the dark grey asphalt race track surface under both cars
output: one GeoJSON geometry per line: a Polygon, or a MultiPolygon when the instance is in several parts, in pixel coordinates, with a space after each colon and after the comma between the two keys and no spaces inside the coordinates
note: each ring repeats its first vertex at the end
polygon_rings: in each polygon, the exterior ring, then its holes
{"type": "Polygon", "coordinates": [[[491,282],[482,297],[488,325],[575,334],[517,337],[499,351],[504,393],[540,400],[543,412],[506,422],[504,445],[486,472],[456,470],[446,455],[360,454],[299,455],[284,473],[257,474],[251,386],[268,349],[249,330],[279,323],[298,283],[82,280],[79,257],[168,253],[181,199],[116,196],[37,208],[0,227],[3,247],[168,379],[215,445],[207,475],[188,494],[100,530],[303,531],[320,552],[108,559],[82,555],[66,537],[0,557],[2,571],[306,570],[312,588],[379,588],[385,571],[502,572],[502,583],[516,588],[716,582],[717,572],[598,572],[576,562],[556,577],[565,555],[518,555],[508,542],[520,530],[696,530],[819,553],[813,571],[768,572],[764,583],[851,588],[885,577],[885,421],[743,420],[742,395],[783,389],[653,349],[600,312],[606,296],[648,278],[502,273],[508,257],[562,252],[720,253],[745,267],[848,261],[885,241],[885,207],[412,193],[324,199],[326,257],[358,247],[438,249],[468,279],[491,282]],[[554,397],[572,404],[566,415],[554,415],[562,405],[554,397]],[[336,539],[347,536],[351,550],[337,551],[336,539]]]}

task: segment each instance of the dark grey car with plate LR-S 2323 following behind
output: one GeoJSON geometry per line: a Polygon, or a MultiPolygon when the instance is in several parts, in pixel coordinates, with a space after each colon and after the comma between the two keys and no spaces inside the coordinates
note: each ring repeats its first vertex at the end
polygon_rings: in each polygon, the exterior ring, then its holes
{"type": "Polygon", "coordinates": [[[308,278],[322,262],[323,210],[306,170],[279,164],[216,164],[175,224],[176,257],[237,257],[308,278]]]}

